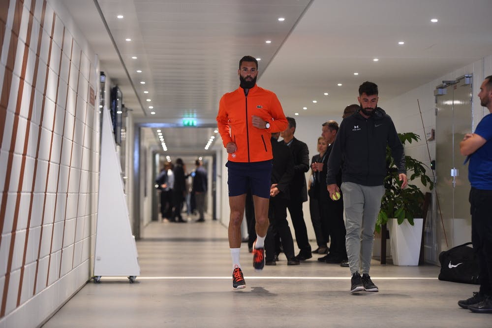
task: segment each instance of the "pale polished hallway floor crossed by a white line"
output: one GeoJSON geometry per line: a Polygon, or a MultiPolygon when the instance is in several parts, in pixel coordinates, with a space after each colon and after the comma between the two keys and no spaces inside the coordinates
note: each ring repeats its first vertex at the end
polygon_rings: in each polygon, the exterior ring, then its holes
{"type": "Polygon", "coordinates": [[[434,265],[373,261],[380,292],[350,295],[348,268],[317,256],[287,266],[281,257],[255,272],[243,244],[246,289],[234,291],[227,229],[217,221],[153,222],[137,248],[135,283],[88,283],[44,327],[492,327],[492,315],[457,305],[477,286],[439,281],[434,265]]]}

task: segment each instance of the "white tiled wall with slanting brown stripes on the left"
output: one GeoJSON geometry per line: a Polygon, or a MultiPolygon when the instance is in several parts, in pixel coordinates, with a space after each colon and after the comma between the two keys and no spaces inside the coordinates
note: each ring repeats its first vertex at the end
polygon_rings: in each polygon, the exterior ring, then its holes
{"type": "Polygon", "coordinates": [[[0,327],[35,327],[92,274],[98,60],[64,7],[0,5],[0,327]]]}

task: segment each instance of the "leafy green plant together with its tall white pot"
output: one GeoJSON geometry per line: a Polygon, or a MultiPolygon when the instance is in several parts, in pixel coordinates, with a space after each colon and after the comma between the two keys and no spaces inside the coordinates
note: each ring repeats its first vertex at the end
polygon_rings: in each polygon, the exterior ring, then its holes
{"type": "MultiPolygon", "coordinates": [[[[400,141],[406,143],[420,140],[420,136],[413,132],[398,133],[400,141]]],[[[376,219],[376,231],[380,233],[381,227],[388,224],[390,228],[390,242],[393,263],[396,265],[418,265],[420,254],[420,242],[422,237],[424,193],[412,181],[420,181],[422,185],[434,187],[431,178],[426,174],[425,164],[405,156],[408,185],[401,189],[401,181],[398,177],[398,169],[391,157],[390,148],[386,148],[387,175],[384,178],[385,194],[381,199],[381,209],[376,219]],[[406,221],[406,222],[405,222],[406,221]],[[398,224],[397,224],[398,223],[398,224]]],[[[383,260],[381,258],[381,260],[383,260]]]]}

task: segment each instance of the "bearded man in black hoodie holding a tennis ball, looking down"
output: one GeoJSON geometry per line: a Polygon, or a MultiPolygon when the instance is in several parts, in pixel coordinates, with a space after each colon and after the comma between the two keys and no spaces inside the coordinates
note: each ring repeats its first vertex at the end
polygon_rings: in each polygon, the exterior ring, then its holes
{"type": "Polygon", "coordinates": [[[407,184],[403,146],[393,121],[377,107],[377,85],[359,87],[361,109],[343,119],[328,159],[326,184],[330,197],[338,199],[336,175],[343,159],[341,190],[344,195],[345,246],[352,274],[350,292],[378,292],[369,276],[376,217],[384,195],[386,145],[398,167],[401,188],[407,184]],[[361,276],[362,273],[362,276],[361,276]]]}

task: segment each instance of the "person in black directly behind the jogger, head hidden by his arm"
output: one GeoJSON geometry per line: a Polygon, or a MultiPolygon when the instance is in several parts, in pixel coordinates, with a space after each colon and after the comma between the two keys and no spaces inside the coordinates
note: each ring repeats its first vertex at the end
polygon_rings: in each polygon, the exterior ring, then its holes
{"type": "Polygon", "coordinates": [[[272,167],[272,186],[270,187],[270,206],[268,208],[267,237],[265,238],[265,264],[276,265],[274,261],[275,234],[278,233],[287,257],[287,265],[299,264],[295,258],[294,241],[287,222],[287,204],[290,200],[289,185],[294,177],[294,157],[289,147],[277,142],[280,133],[272,133],[271,143],[274,155],[272,167]]]}

